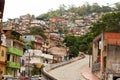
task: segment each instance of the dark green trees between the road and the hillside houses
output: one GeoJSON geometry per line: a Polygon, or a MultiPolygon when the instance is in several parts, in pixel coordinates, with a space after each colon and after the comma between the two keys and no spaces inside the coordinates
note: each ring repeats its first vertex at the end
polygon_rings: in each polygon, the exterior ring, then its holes
{"type": "MultiPolygon", "coordinates": [[[[120,12],[103,15],[102,18],[90,27],[90,32],[80,37],[68,35],[65,37],[64,43],[66,43],[67,47],[74,46],[81,52],[92,54],[93,39],[104,32],[120,32],[120,12]]],[[[77,52],[71,53],[76,55],[77,52]]]]}

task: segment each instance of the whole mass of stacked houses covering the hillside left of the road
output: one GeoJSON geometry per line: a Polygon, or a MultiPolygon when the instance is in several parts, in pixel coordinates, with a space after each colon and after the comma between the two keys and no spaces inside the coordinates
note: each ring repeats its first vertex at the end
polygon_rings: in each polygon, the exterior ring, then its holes
{"type": "Polygon", "coordinates": [[[68,30],[68,34],[81,36],[89,31],[91,24],[101,15],[92,14],[83,18],[75,13],[65,13],[45,21],[37,20],[27,14],[8,19],[3,23],[1,33],[0,76],[30,75],[33,64],[46,65],[67,60],[68,49],[60,47],[65,35],[59,34],[59,28],[64,32],[68,30]],[[77,18],[73,21],[75,16],[77,18]],[[29,33],[27,28],[35,26],[44,30],[47,40],[43,40],[39,35],[23,35],[29,33]],[[54,51],[54,48],[57,51],[54,51]]]}

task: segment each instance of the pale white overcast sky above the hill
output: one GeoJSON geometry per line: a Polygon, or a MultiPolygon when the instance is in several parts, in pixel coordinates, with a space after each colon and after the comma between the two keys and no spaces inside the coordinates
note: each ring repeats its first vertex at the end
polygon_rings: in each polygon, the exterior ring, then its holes
{"type": "Polygon", "coordinates": [[[38,16],[50,9],[58,9],[60,4],[82,6],[85,2],[107,5],[107,3],[114,4],[120,0],[5,0],[3,21],[8,18],[18,18],[20,15],[28,13],[38,16]]]}

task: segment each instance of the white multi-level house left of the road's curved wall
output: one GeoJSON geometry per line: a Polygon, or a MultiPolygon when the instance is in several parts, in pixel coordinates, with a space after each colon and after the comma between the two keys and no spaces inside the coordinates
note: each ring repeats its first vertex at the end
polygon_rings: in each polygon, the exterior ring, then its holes
{"type": "Polygon", "coordinates": [[[43,54],[41,50],[27,50],[21,57],[21,73],[27,72],[28,67],[32,69],[33,64],[50,64],[53,62],[53,55],[43,54]]]}

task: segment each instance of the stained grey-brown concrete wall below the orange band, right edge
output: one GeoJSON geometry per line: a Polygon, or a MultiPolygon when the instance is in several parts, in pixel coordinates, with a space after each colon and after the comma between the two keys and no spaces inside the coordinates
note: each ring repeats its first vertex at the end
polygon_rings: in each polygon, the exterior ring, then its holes
{"type": "Polygon", "coordinates": [[[118,45],[108,46],[106,67],[108,72],[110,73],[113,72],[111,70],[114,70],[115,73],[120,73],[120,46],[118,45]]]}

